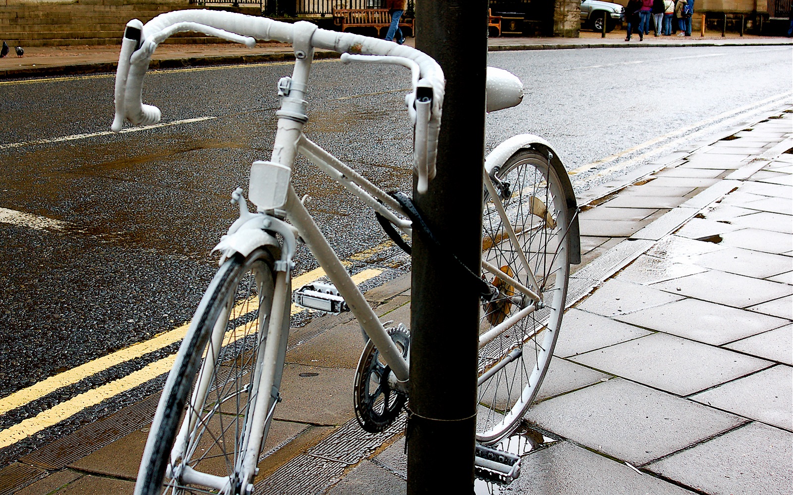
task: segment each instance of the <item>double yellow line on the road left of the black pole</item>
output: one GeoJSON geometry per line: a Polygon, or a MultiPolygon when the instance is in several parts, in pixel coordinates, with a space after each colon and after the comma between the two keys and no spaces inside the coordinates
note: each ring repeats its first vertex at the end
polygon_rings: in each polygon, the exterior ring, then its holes
{"type": "MultiPolygon", "coordinates": [[[[381,273],[382,270],[368,268],[362,272],[356,273],[351,278],[355,284],[362,284],[366,280],[370,280],[381,273]]],[[[301,287],[302,285],[310,284],[315,280],[319,280],[324,275],[325,272],[322,268],[316,268],[315,270],[306,272],[301,276],[293,278],[293,286],[301,287]]],[[[255,307],[251,306],[251,302],[243,301],[238,303],[232,312],[236,314],[241,313],[242,311],[247,312],[250,310],[255,310],[255,307]]],[[[301,310],[303,310],[303,308],[293,304],[291,308],[291,314],[299,313],[301,310]]],[[[224,338],[224,345],[231,343],[232,341],[236,341],[239,337],[242,337],[244,332],[240,333],[239,330],[244,330],[243,327],[244,325],[237,329],[229,330],[228,334],[224,338]]],[[[32,386],[18,390],[6,398],[0,399],[0,414],[7,413],[8,411],[16,409],[17,407],[25,406],[25,404],[44,397],[44,395],[50,394],[59,388],[78,383],[82,379],[86,379],[91,375],[96,375],[101,371],[105,371],[110,367],[116,366],[117,364],[125,363],[126,361],[144,356],[149,352],[154,352],[161,348],[167,347],[168,345],[174,344],[174,342],[181,341],[182,338],[185,337],[189,328],[190,322],[165,333],[160,333],[159,335],[152,337],[147,341],[130,345],[128,348],[123,348],[119,351],[108,354],[107,356],[102,356],[86,364],[81,364],[78,367],[73,367],[71,370],[63,371],[63,373],[51,376],[48,379],[44,379],[32,386]]],[[[60,402],[56,406],[36,414],[35,417],[29,417],[28,419],[17,423],[17,425],[13,425],[10,428],[2,430],[2,432],[0,432],[0,448],[15,444],[19,440],[23,440],[28,436],[34,435],[44,428],[57,425],[60,421],[63,421],[68,417],[79,413],[82,411],[82,409],[95,406],[105,399],[111,398],[117,394],[121,394],[126,390],[130,390],[136,386],[146,383],[151,379],[155,379],[159,375],[163,375],[163,373],[167,373],[173,366],[175,359],[175,354],[164,357],[161,360],[147,364],[142,369],[134,371],[125,377],[113,380],[110,383],[105,383],[105,385],[98,386],[95,389],[76,395],[67,401],[60,402]]]]}

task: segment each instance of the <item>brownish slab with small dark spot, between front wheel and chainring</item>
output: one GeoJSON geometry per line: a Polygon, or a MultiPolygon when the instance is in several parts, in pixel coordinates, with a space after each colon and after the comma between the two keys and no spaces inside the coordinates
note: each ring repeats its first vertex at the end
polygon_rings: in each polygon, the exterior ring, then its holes
{"type": "Polygon", "coordinates": [[[286,364],[281,382],[284,400],[275,408],[275,419],[312,425],[343,424],[354,415],[354,375],[355,370],[347,368],[286,364]]]}

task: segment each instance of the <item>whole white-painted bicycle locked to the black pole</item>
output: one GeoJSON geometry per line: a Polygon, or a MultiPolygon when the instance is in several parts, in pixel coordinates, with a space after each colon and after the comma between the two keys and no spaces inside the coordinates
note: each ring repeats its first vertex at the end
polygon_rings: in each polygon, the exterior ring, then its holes
{"type": "MultiPolygon", "coordinates": [[[[368,336],[354,383],[362,427],[382,431],[407,400],[409,333],[401,325],[386,329],[381,324],[320,233],[290,183],[295,157],[308,158],[381,215],[400,245],[405,244],[401,234],[410,238],[417,212],[405,196],[382,191],[303,135],[314,49],[337,51],[344,63],[393,63],[411,70],[405,104],[415,130],[419,193],[435,175],[445,81],[434,59],[390,41],[317,29],[308,22],[180,10],[146,25],[128,23],[117,70],[114,131],[125,120],[136,125],[159,121],[159,109],[142,104],[144,74],[157,45],[180,31],[248,46],[257,39],[290,43],[296,58],[291,77],[278,82],[281,109],[270,160],[251,167],[249,199],[256,211],[248,210],[242,189],[232,194],[239,219],[216,246],[220,269],[168,375],[135,491],[245,494],[251,493],[281,400],[297,242],[308,245],[332,284],[301,287],[296,302],[328,312],[351,310],[368,336]]],[[[517,105],[522,90],[514,75],[488,68],[488,111],[517,105]]],[[[544,140],[517,135],[501,143],[488,154],[484,178],[483,196],[470,198],[485,202],[477,440],[492,445],[514,431],[542,383],[565,309],[569,264],[578,262],[580,247],[569,177],[544,140]]],[[[485,468],[497,470],[492,463],[485,468]]]]}

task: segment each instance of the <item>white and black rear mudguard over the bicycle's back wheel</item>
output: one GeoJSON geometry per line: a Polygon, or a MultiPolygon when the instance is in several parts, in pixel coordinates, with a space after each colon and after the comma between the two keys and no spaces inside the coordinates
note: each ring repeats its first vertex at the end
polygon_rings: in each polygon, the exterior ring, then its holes
{"type": "Polygon", "coordinates": [[[573,219],[570,229],[570,262],[578,265],[581,262],[581,241],[580,230],[578,227],[578,204],[576,201],[576,193],[573,192],[573,184],[570,183],[570,177],[567,174],[565,166],[562,165],[559,159],[559,154],[550,146],[545,139],[538,135],[519,134],[514,135],[510,139],[504,141],[492,150],[487,158],[485,158],[485,170],[488,175],[496,166],[503,166],[505,162],[519,150],[531,149],[538,151],[546,156],[550,156],[550,165],[554,168],[559,182],[561,185],[562,193],[565,195],[565,204],[569,217],[573,219]]]}

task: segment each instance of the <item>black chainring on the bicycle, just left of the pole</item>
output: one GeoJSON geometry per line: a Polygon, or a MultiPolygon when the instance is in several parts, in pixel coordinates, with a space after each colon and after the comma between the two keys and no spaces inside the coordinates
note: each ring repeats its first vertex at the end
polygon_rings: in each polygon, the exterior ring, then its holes
{"type": "MultiPolygon", "coordinates": [[[[408,359],[410,333],[401,323],[386,329],[391,340],[408,359]]],[[[388,428],[399,416],[400,410],[408,400],[408,395],[389,386],[391,368],[380,359],[380,351],[370,340],[363,348],[358,370],[355,371],[353,401],[355,417],[361,428],[370,433],[378,433],[388,428]]]]}

